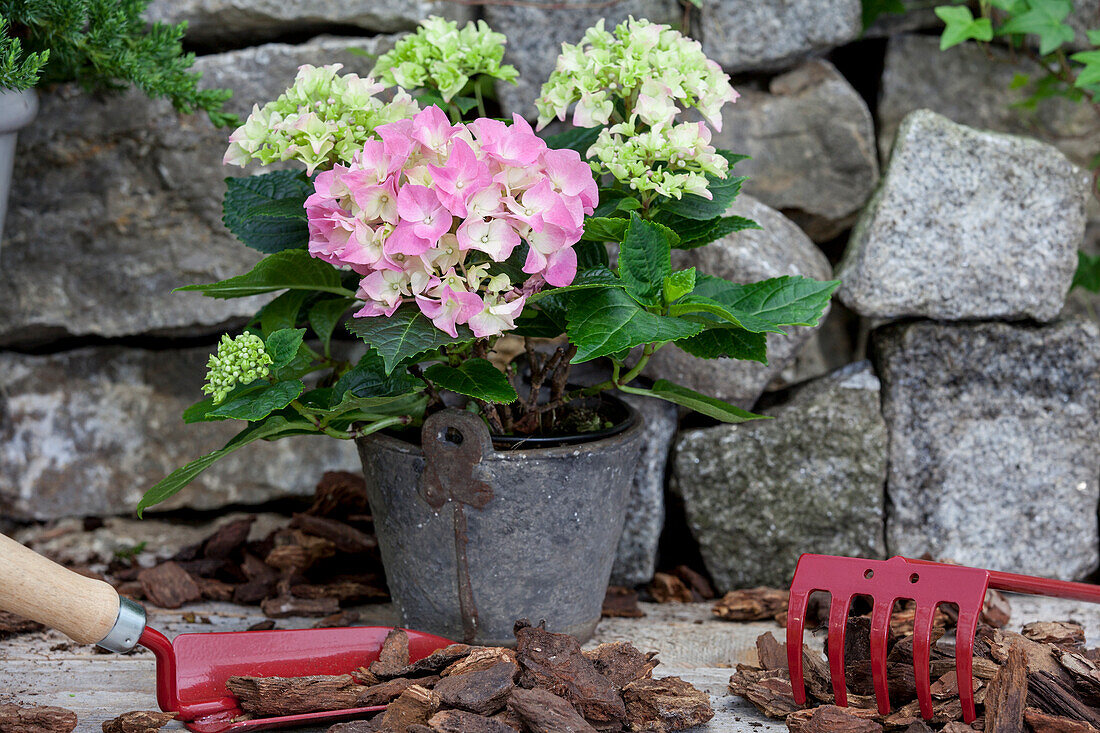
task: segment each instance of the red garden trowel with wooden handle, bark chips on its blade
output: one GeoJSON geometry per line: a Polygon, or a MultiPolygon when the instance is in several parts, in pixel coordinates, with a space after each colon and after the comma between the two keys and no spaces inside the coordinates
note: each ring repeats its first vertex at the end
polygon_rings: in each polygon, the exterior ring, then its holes
{"type": "MultiPolygon", "coordinates": [[[[145,625],[145,610],[101,580],[77,575],[0,535],[0,610],[32,619],[80,644],[129,652],[138,644],[156,655],[156,700],[193,731],[266,731],[329,722],[385,710],[385,705],[234,722],[238,700],[226,688],[233,676],[343,675],[378,657],[392,628],[304,628],[180,634],[169,642],[145,625]]],[[[451,642],[408,632],[409,658],[421,659],[451,642]]]]}

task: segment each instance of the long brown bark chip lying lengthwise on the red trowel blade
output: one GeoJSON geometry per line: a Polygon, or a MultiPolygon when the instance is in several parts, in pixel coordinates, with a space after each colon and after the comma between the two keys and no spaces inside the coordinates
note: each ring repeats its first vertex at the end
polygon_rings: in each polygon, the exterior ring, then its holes
{"type": "Polygon", "coordinates": [[[264,718],[354,708],[363,687],[351,675],[230,677],[241,710],[264,718]]]}

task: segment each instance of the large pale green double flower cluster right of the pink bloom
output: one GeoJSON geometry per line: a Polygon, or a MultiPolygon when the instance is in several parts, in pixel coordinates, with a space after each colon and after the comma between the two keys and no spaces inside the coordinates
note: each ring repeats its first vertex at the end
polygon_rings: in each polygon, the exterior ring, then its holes
{"type": "Polygon", "coordinates": [[[722,107],[735,101],[729,76],[703,54],[697,41],[668,25],[629,18],[588,29],[581,43],[562,44],[550,79],[535,105],[541,129],[550,120],[601,131],[587,151],[597,174],[612,174],[640,192],[680,198],[710,197],[706,174],[725,177],[727,163],[711,146],[703,122],[678,121],[696,109],[722,130],[722,107]]]}

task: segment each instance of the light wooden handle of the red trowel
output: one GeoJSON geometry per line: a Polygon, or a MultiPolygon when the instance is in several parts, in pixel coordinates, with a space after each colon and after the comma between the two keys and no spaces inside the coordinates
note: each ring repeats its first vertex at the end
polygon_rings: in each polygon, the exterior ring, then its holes
{"type": "Polygon", "coordinates": [[[85,578],[0,535],[0,610],[80,644],[97,644],[114,627],[119,604],[119,594],[102,580],[85,578]]]}

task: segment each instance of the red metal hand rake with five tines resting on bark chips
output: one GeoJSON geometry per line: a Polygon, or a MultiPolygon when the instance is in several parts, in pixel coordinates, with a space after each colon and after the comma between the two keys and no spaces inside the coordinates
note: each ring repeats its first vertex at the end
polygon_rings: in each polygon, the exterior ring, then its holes
{"type": "Polygon", "coordinates": [[[802,677],[802,633],[806,621],[806,603],[814,591],[832,595],[828,614],[828,661],[836,704],[847,707],[848,694],[844,676],[844,635],[848,608],[855,595],[870,597],[871,611],[871,679],[879,712],[890,712],[887,687],[887,633],[894,602],[912,600],[916,604],[913,622],[913,667],[916,674],[916,697],[921,715],[932,719],[932,623],[936,606],[955,603],[958,625],[955,637],[955,670],[958,679],[963,719],[974,721],[974,639],[986,590],[994,589],[1034,595],[1052,595],[1100,603],[1100,587],[1064,580],[1033,578],[996,570],[979,570],[927,560],[893,557],[889,560],[862,560],[854,557],[803,555],[791,581],[788,604],[787,658],[791,670],[794,701],[806,702],[802,677]]]}

